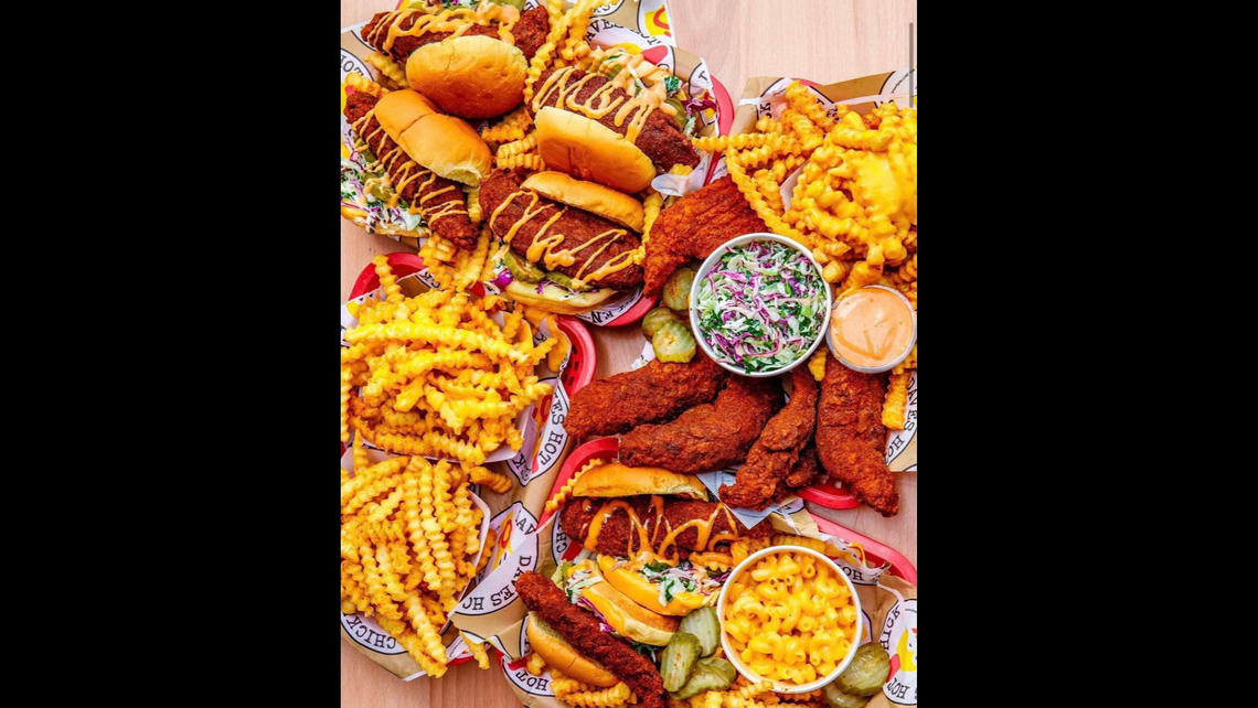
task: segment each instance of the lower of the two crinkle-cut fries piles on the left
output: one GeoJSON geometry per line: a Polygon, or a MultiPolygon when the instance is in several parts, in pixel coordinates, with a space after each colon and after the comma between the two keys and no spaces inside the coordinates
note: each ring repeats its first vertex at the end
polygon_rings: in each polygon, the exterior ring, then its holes
{"type": "MultiPolygon", "coordinates": [[[[341,611],[374,616],[429,675],[445,673],[440,631],[458,594],[489,560],[469,484],[492,472],[421,456],[371,464],[353,440],[353,473],[341,468],[341,611]]],[[[492,541],[487,539],[486,546],[492,541]]],[[[482,669],[483,644],[463,635],[482,669]]]]}

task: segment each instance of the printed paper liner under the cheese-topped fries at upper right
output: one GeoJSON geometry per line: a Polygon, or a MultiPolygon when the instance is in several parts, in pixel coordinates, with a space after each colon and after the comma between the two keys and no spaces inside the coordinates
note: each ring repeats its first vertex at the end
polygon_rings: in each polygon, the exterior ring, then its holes
{"type": "MultiPolygon", "coordinates": [[[[730,135],[742,135],[755,130],[756,121],[781,116],[786,107],[786,87],[795,79],[791,77],[755,77],[742,88],[742,97],[733,112],[733,124],[730,135]]],[[[845,104],[858,113],[869,113],[883,103],[894,101],[897,106],[917,106],[917,70],[897,69],[884,74],[874,74],[859,79],[810,86],[818,101],[825,106],[832,117],[837,116],[834,106],[845,104]],[[912,96],[910,96],[912,92],[912,96]]],[[[782,182],[782,196],[790,202],[795,179],[801,169],[796,169],[782,182]]],[[[725,157],[712,171],[713,179],[726,175],[725,157]]],[[[649,348],[649,347],[648,347],[649,348]]],[[[643,362],[645,363],[645,362],[643,362]]],[[[917,472],[917,370],[908,377],[908,405],[905,410],[905,429],[892,430],[887,436],[887,465],[892,472],[917,472]]]]}

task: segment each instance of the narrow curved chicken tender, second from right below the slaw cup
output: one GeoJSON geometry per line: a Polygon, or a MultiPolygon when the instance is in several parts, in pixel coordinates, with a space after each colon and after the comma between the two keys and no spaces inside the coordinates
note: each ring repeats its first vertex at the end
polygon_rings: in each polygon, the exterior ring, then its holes
{"type": "Polygon", "coordinates": [[[796,366],[791,370],[791,384],[790,401],[769,421],[751,446],[733,484],[721,487],[721,501],[726,504],[764,508],[786,494],[786,479],[794,473],[800,451],[811,443],[816,429],[816,380],[808,367],[796,366]]]}

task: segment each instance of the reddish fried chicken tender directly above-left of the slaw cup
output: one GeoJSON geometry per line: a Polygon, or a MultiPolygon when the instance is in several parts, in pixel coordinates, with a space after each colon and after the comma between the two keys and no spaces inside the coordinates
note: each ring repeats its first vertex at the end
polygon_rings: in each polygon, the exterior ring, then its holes
{"type": "Polygon", "coordinates": [[[658,294],[687,260],[707,258],[732,238],[767,230],[728,175],[692,191],[660,211],[650,228],[643,262],[645,293],[658,294]]]}

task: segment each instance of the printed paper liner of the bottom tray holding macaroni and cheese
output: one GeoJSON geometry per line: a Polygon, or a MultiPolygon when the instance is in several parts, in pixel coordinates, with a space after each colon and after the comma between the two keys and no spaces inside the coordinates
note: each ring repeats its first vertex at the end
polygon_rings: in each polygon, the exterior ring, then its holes
{"type": "MultiPolygon", "coordinates": [[[[869,705],[916,705],[917,589],[889,575],[887,565],[871,563],[859,545],[819,531],[813,516],[803,508],[779,509],[769,514],[766,523],[782,533],[820,538],[842,551],[835,563],[852,580],[860,597],[862,644],[878,641],[891,655],[892,675],[883,693],[869,705]]],[[[527,528],[521,524],[516,531],[527,532],[527,528]]],[[[548,669],[537,677],[525,669],[523,658],[530,651],[525,633],[528,609],[516,595],[515,581],[526,571],[548,577],[579,551],[574,539],[564,533],[559,514],[551,514],[536,533],[520,539],[515,553],[468,592],[452,615],[457,628],[484,638],[502,653],[499,665],[512,690],[521,703],[532,708],[567,708],[567,704],[555,698],[548,669]]]]}

